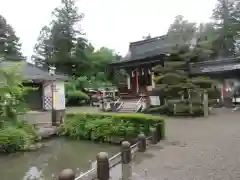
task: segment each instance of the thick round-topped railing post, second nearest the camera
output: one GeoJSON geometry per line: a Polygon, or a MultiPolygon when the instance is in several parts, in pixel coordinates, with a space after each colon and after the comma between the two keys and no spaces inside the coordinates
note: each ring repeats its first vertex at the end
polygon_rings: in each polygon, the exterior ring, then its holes
{"type": "Polygon", "coordinates": [[[110,168],[108,153],[100,152],[97,155],[97,178],[98,180],[109,180],[110,168]]]}

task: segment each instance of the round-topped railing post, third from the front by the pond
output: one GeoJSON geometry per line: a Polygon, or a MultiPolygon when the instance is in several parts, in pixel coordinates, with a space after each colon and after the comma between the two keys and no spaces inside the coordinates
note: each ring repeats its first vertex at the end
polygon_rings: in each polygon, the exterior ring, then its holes
{"type": "Polygon", "coordinates": [[[132,179],[132,154],[131,145],[128,141],[123,141],[121,146],[122,156],[122,180],[132,179]]]}

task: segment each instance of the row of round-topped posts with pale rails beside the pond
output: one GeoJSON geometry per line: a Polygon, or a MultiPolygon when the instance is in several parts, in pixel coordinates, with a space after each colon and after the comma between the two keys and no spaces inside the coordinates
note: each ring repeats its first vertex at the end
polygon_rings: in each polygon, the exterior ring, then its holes
{"type": "Polygon", "coordinates": [[[130,146],[128,141],[123,141],[121,151],[111,158],[108,158],[106,152],[100,152],[97,155],[97,161],[92,164],[92,168],[85,173],[75,174],[71,169],[63,170],[58,180],[110,180],[110,170],[115,166],[122,165],[122,178],[131,179],[131,162],[137,152],[145,152],[149,144],[157,144],[162,139],[160,125],[150,129],[150,136],[145,137],[144,134],[139,134],[138,141],[130,146]]]}

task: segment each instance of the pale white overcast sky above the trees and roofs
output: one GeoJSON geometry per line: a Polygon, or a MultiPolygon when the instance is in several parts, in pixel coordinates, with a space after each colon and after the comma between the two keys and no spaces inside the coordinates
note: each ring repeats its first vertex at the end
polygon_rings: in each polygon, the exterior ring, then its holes
{"type": "MultiPolygon", "coordinates": [[[[60,0],[0,0],[0,14],[20,37],[25,56],[32,55],[42,26],[51,20],[51,11],[60,0]]],[[[166,33],[174,17],[182,14],[189,21],[209,21],[216,0],[78,0],[85,14],[82,26],[97,47],[107,46],[121,54],[129,42],[150,33],[166,33]]]]}

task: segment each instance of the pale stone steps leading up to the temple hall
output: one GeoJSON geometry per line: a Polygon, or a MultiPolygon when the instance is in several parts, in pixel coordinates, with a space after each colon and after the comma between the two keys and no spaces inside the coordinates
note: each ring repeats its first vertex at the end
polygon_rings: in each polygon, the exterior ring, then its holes
{"type": "Polygon", "coordinates": [[[137,104],[139,99],[124,99],[122,100],[122,106],[118,110],[121,113],[133,113],[136,112],[137,104]]]}

